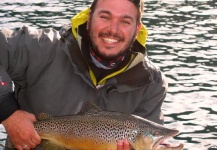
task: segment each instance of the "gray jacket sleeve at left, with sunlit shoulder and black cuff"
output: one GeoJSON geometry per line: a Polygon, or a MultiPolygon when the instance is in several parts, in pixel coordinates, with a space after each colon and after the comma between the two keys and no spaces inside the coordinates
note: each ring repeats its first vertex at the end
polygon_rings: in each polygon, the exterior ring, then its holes
{"type": "Polygon", "coordinates": [[[0,122],[19,108],[17,102],[23,96],[19,92],[38,82],[61,44],[59,32],[52,28],[0,31],[0,82],[6,83],[0,85],[0,122]]]}

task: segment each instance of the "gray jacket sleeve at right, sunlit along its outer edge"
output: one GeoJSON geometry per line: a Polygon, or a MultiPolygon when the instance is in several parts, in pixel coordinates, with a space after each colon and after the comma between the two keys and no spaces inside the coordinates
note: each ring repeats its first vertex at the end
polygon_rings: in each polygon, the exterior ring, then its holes
{"type": "MultiPolygon", "coordinates": [[[[153,64],[151,64],[151,66],[154,67],[153,64]]],[[[166,77],[158,68],[148,68],[152,74],[152,83],[143,89],[143,100],[140,102],[134,114],[156,123],[163,124],[164,116],[161,107],[166,97],[168,83],[166,77]]]]}

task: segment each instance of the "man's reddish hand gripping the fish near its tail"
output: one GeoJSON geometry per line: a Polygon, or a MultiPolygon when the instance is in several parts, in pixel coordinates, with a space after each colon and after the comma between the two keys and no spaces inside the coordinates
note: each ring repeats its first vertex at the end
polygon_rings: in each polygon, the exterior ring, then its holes
{"type": "Polygon", "coordinates": [[[33,114],[17,110],[2,122],[8,136],[18,150],[29,150],[40,144],[41,138],[33,125],[35,121],[36,117],[33,114]]]}

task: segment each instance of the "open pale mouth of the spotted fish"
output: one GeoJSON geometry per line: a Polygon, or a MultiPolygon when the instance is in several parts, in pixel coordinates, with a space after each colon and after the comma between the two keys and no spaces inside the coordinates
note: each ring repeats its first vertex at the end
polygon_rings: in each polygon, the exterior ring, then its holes
{"type": "Polygon", "coordinates": [[[171,137],[174,137],[178,134],[179,132],[174,130],[174,132],[166,135],[166,136],[162,136],[162,137],[159,137],[155,140],[153,146],[152,146],[152,149],[153,150],[182,150],[184,145],[182,143],[180,143],[178,146],[171,146],[169,143],[165,143],[165,140],[168,139],[168,138],[171,138],[171,137]]]}

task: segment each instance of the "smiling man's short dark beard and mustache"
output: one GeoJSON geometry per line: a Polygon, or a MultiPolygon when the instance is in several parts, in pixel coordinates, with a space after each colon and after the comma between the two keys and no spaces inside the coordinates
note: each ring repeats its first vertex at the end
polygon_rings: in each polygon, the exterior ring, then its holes
{"type": "MultiPolygon", "coordinates": [[[[91,21],[89,22],[89,30],[88,30],[88,40],[91,46],[91,49],[97,54],[98,57],[100,57],[102,60],[110,61],[110,60],[116,60],[118,57],[125,55],[127,51],[130,50],[130,48],[133,45],[133,42],[135,41],[135,36],[136,33],[132,36],[132,38],[128,41],[128,43],[125,45],[125,48],[123,48],[119,53],[113,54],[113,55],[106,55],[102,52],[99,51],[99,47],[97,44],[95,44],[94,39],[98,37],[103,37],[103,36],[108,36],[108,37],[114,37],[115,39],[118,39],[119,41],[124,41],[125,39],[119,36],[118,34],[113,34],[111,32],[100,32],[99,35],[96,35],[94,37],[93,31],[91,28],[91,21]]],[[[108,48],[109,50],[109,48],[108,48]]]]}

